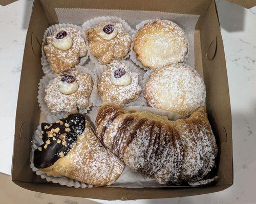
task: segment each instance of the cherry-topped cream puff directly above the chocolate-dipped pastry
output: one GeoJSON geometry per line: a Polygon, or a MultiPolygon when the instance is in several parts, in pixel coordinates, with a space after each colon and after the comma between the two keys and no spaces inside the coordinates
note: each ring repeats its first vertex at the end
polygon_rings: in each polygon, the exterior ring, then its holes
{"type": "Polygon", "coordinates": [[[92,76],[80,70],[58,76],[46,87],[44,98],[48,108],[56,112],[72,112],[76,108],[89,106],[89,96],[93,87],[92,76]]]}

